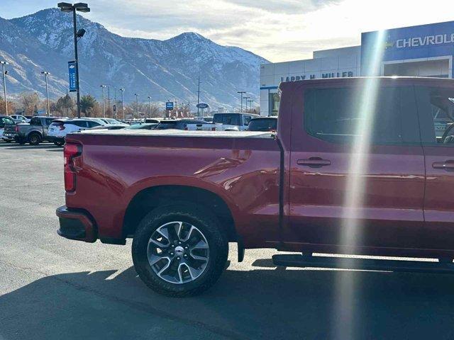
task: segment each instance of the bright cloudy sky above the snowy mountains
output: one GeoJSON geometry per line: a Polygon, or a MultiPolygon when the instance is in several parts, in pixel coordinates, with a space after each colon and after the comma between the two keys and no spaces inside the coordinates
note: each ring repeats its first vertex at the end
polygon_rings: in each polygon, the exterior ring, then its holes
{"type": "MultiPolygon", "coordinates": [[[[84,17],[128,37],[164,40],[196,32],[271,62],[309,59],[314,50],[360,45],[371,30],[454,20],[452,0],[86,0],[84,17]]],[[[1,0],[16,18],[57,1],[1,0]]]]}

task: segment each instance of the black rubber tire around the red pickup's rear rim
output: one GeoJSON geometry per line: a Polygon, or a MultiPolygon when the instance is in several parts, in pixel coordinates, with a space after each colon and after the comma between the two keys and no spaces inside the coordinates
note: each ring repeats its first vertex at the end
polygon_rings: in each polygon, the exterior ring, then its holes
{"type": "Polygon", "coordinates": [[[221,276],[228,258],[228,239],[218,219],[209,210],[191,203],[165,205],[146,215],[135,230],[132,245],[135,271],[155,292],[170,297],[198,295],[209,289],[221,276]],[[171,221],[194,225],[209,245],[209,260],[201,275],[187,283],[170,283],[157,276],[148,262],[147,247],[153,232],[171,221]]]}

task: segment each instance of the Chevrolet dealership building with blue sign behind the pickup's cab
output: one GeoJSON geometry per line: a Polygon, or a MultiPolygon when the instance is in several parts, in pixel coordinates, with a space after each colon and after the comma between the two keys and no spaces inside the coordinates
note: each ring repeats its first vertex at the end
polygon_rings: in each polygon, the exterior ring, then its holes
{"type": "Polygon", "coordinates": [[[309,60],[260,65],[260,114],[277,114],[277,87],[282,81],[360,76],[453,78],[453,55],[454,21],[361,33],[360,46],[314,51],[309,60]],[[379,63],[374,71],[370,71],[372,60],[379,63]]]}

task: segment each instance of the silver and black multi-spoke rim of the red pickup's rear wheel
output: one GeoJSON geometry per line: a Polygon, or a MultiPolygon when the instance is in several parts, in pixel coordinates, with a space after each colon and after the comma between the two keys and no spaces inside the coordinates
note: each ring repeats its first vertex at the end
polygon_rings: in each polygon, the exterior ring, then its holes
{"type": "Polygon", "coordinates": [[[194,225],[168,222],[151,235],[147,257],[151,268],[162,280],[188,283],[204,273],[209,261],[209,246],[204,234],[194,225]]]}

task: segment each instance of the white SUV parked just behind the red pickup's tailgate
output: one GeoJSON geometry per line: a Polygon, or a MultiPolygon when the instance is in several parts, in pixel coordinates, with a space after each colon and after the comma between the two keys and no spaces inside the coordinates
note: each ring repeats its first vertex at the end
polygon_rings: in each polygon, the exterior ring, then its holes
{"type": "Polygon", "coordinates": [[[65,137],[68,133],[87,130],[104,124],[104,121],[96,118],[57,119],[49,125],[48,140],[61,146],[65,144],[65,137]]]}

